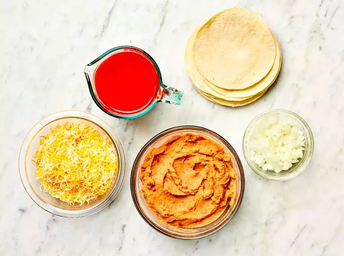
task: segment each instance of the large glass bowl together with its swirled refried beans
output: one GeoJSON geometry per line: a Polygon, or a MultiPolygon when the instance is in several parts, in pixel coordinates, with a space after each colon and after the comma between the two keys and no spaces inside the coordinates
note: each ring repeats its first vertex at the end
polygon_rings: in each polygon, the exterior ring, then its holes
{"type": "Polygon", "coordinates": [[[130,178],[134,204],[157,231],[181,239],[224,227],[244,196],[244,171],[233,147],[198,126],[178,126],[149,140],[130,178]]]}

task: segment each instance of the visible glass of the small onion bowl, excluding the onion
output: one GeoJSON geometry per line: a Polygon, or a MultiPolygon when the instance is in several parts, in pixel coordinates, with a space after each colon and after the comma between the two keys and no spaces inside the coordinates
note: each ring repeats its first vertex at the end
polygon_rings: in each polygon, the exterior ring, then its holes
{"type": "Polygon", "coordinates": [[[244,139],[243,139],[243,151],[245,159],[248,163],[248,165],[251,167],[253,171],[258,173],[260,176],[270,179],[270,180],[288,180],[293,177],[296,177],[299,175],[302,171],[306,169],[308,164],[311,162],[312,155],[313,155],[313,149],[314,149],[314,139],[313,134],[311,131],[311,128],[308,126],[306,121],[302,119],[298,114],[295,114],[291,111],[287,110],[270,110],[264,113],[259,114],[256,116],[250,124],[247,126],[244,139]],[[256,163],[254,163],[249,155],[249,138],[250,133],[252,131],[252,128],[255,127],[256,124],[261,120],[261,118],[269,116],[269,115],[283,115],[287,118],[291,118],[301,129],[303,132],[303,135],[305,136],[305,150],[303,151],[303,157],[299,159],[299,162],[292,164],[292,167],[290,167],[287,171],[280,171],[279,173],[276,173],[275,171],[264,171],[261,167],[259,167],[256,163]]]}

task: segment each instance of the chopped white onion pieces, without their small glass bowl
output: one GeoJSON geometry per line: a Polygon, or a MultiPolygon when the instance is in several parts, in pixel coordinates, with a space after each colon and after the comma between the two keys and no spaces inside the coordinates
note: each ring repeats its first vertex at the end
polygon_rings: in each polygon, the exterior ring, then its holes
{"type": "Polygon", "coordinates": [[[303,157],[305,137],[297,123],[282,114],[262,117],[248,140],[251,160],[263,171],[286,171],[303,157]]]}

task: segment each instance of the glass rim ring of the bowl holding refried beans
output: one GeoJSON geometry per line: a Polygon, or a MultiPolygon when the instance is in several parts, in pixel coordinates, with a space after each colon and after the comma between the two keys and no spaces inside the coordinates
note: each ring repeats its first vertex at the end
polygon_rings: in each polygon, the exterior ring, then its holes
{"type": "MultiPolygon", "coordinates": [[[[130,191],[131,191],[131,196],[132,196],[132,199],[133,199],[133,202],[134,202],[134,205],[135,205],[135,208],[137,209],[137,211],[139,212],[140,216],[143,218],[143,220],[153,229],[155,229],[156,231],[158,231],[159,233],[162,233],[166,236],[169,236],[169,237],[172,237],[172,238],[177,238],[177,239],[182,239],[182,240],[192,240],[192,239],[199,239],[199,238],[202,238],[202,237],[206,237],[206,236],[209,236],[215,232],[217,232],[218,230],[220,230],[221,228],[225,227],[229,221],[235,216],[235,214],[237,213],[238,209],[240,208],[240,205],[242,203],[242,200],[244,198],[244,192],[245,192],[245,174],[244,174],[244,169],[242,167],[242,164],[241,164],[241,161],[240,161],[240,158],[238,156],[238,154],[236,153],[236,151],[234,150],[234,148],[231,146],[231,144],[226,140],[224,139],[221,135],[217,134],[216,132],[213,132],[212,130],[210,129],[207,129],[207,128],[204,128],[204,127],[201,127],[201,126],[195,126],[195,125],[180,125],[180,126],[174,126],[174,127],[171,127],[171,128],[168,128],[166,130],[163,130],[162,132],[159,132],[158,134],[156,134],[155,136],[153,136],[151,139],[148,140],[148,142],[146,142],[143,147],[140,149],[139,153],[137,154],[135,160],[134,160],[134,163],[133,163],[133,166],[132,166],[132,170],[131,170],[131,174],[130,174],[130,191]],[[176,132],[178,130],[182,131],[183,129],[194,129],[196,130],[195,132],[198,132],[197,130],[199,131],[203,131],[203,132],[206,132],[208,133],[209,135],[211,136],[215,136],[217,137],[217,139],[219,139],[221,142],[223,142],[228,148],[229,150],[231,151],[231,153],[233,154],[234,158],[235,159],[232,159],[233,161],[236,161],[237,165],[238,165],[238,171],[240,172],[241,174],[241,179],[239,180],[241,182],[241,188],[240,188],[240,191],[239,191],[239,196],[238,196],[238,199],[237,199],[237,204],[235,205],[235,208],[233,208],[233,211],[231,213],[231,215],[222,223],[220,223],[217,227],[213,228],[212,230],[208,231],[207,229],[206,230],[203,230],[201,231],[200,233],[198,234],[187,234],[186,236],[181,236],[180,234],[177,234],[177,233],[170,233],[162,228],[159,228],[158,226],[155,225],[154,222],[151,222],[146,216],[145,214],[143,213],[143,211],[141,210],[140,208],[140,203],[136,197],[136,193],[135,193],[135,185],[136,185],[136,180],[135,180],[135,175],[134,175],[134,172],[135,172],[135,169],[138,169],[138,162],[139,162],[139,159],[142,157],[143,155],[143,152],[153,143],[155,142],[157,139],[159,139],[160,137],[162,136],[165,136],[165,135],[168,135],[169,133],[172,133],[172,132],[176,132]]],[[[211,224],[211,223],[210,223],[211,224]]],[[[210,225],[210,224],[207,224],[207,225],[210,225]]]]}

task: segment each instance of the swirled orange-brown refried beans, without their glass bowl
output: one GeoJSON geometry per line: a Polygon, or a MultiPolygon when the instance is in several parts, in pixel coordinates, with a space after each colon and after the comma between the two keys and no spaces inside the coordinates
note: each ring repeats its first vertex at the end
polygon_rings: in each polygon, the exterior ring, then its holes
{"type": "Polygon", "coordinates": [[[141,166],[146,203],[162,221],[199,227],[215,221],[235,195],[235,171],[218,143],[201,135],[174,136],[153,148],[141,166]]]}

